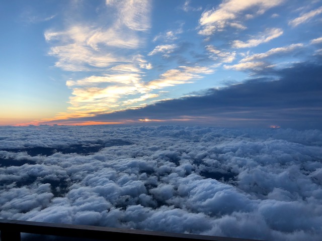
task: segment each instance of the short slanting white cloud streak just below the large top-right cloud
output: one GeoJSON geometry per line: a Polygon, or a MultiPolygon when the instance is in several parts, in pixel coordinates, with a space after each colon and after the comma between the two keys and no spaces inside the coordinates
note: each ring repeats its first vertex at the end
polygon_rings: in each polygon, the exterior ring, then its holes
{"type": "Polygon", "coordinates": [[[282,29],[278,29],[278,28],[266,29],[264,33],[261,33],[258,36],[254,37],[253,39],[250,39],[246,42],[243,42],[240,40],[234,40],[232,42],[232,47],[233,48],[256,47],[262,43],[267,43],[275,38],[278,38],[282,34],[283,34],[282,29]]]}

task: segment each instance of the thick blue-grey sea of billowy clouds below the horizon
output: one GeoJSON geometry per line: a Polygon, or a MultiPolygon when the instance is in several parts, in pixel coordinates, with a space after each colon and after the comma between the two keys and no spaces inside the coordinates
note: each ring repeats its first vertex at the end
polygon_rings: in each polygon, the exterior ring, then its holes
{"type": "Polygon", "coordinates": [[[322,132],[0,127],[0,218],[320,240],[322,132]]]}

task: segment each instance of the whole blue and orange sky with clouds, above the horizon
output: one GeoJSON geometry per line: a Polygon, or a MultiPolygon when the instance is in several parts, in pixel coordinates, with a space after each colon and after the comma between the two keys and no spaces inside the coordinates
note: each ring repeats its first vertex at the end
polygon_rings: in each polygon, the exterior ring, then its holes
{"type": "Polygon", "coordinates": [[[3,1],[0,125],[322,129],[322,1],[3,1]]]}

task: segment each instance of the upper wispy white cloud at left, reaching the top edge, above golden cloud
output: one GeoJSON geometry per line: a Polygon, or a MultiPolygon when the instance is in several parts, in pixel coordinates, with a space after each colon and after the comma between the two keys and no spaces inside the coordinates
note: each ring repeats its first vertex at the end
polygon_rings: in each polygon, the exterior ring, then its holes
{"type": "Polygon", "coordinates": [[[142,0],[131,3],[109,1],[106,4],[107,8],[102,9],[104,21],[100,15],[91,22],[71,19],[64,30],[45,32],[46,41],[52,45],[49,54],[58,58],[56,67],[67,71],[89,71],[116,62],[131,62],[129,56],[134,55],[131,50],[143,43],[139,32],[150,28],[150,3],[142,0]]]}

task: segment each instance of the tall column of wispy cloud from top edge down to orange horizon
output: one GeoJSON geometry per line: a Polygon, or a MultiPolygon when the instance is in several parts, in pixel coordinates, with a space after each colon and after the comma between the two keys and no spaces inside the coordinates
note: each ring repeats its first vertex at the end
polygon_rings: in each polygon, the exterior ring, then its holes
{"type": "Polygon", "coordinates": [[[49,54],[58,59],[56,67],[101,73],[66,81],[72,96],[67,112],[59,113],[58,118],[111,112],[120,107],[125,97],[130,101],[146,93],[142,76],[152,65],[137,49],[144,44],[142,32],[150,28],[150,5],[147,0],[106,1],[100,9],[104,18],[70,18],[65,29],[45,32],[51,45],[49,54]]]}

